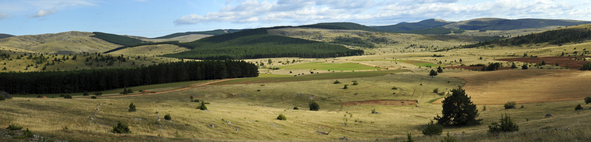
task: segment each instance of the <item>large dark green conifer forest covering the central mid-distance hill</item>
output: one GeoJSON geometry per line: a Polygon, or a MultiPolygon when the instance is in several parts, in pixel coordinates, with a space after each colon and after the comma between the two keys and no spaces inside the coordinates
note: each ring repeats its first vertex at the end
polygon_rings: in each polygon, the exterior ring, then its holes
{"type": "Polygon", "coordinates": [[[142,45],[171,44],[191,48],[191,50],[161,55],[167,58],[183,59],[253,59],[253,58],[334,58],[340,56],[363,55],[363,50],[349,49],[342,45],[332,45],[315,40],[268,35],[267,29],[258,28],[246,31],[210,36],[193,42],[157,42],[129,45],[109,50],[121,50],[142,45]]]}

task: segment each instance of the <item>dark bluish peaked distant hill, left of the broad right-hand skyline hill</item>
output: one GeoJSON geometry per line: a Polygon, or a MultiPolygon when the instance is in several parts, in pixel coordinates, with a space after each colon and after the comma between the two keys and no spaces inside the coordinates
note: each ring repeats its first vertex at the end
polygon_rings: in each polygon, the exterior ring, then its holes
{"type": "Polygon", "coordinates": [[[408,23],[408,22],[401,22],[397,23],[396,25],[388,25],[388,26],[374,26],[375,29],[381,29],[384,31],[392,31],[392,32],[402,32],[402,31],[411,31],[417,29],[427,29],[427,28],[435,28],[444,25],[448,25],[449,21],[444,21],[440,19],[426,19],[420,22],[408,23]]]}

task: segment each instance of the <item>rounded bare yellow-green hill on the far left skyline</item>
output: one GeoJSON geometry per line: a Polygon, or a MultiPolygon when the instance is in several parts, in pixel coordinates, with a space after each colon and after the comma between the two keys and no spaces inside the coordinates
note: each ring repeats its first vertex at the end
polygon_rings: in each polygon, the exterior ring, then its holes
{"type": "MultiPolygon", "coordinates": [[[[40,53],[105,52],[119,47],[102,39],[90,37],[91,32],[61,32],[41,35],[14,36],[0,39],[0,46],[40,53]]],[[[122,36],[123,37],[123,36],[122,36]]]]}

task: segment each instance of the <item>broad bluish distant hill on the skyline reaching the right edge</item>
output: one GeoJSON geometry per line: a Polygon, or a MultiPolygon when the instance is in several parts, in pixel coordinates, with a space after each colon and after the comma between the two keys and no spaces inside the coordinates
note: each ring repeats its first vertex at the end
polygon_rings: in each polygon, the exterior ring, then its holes
{"type": "Polygon", "coordinates": [[[567,19],[499,19],[478,18],[460,21],[441,26],[442,28],[460,30],[493,30],[509,31],[515,29],[556,29],[564,26],[583,25],[591,21],[576,21],[567,19]]]}

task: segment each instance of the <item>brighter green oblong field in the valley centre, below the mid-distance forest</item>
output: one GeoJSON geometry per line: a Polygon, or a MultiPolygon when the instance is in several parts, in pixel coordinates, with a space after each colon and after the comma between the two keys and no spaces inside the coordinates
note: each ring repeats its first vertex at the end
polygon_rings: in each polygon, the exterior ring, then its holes
{"type": "Polygon", "coordinates": [[[310,62],[297,65],[280,66],[279,69],[322,69],[322,70],[375,70],[375,67],[358,63],[325,63],[310,62]]]}

